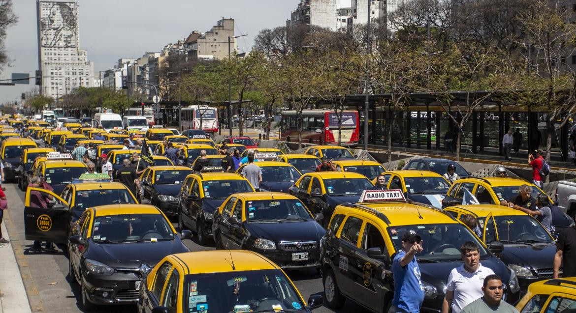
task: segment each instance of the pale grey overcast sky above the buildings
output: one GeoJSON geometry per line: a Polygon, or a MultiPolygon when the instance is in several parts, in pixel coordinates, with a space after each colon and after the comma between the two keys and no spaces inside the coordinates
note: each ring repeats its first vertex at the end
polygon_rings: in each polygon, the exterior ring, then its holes
{"type": "MultiPolygon", "coordinates": [[[[0,72],[9,79],[13,72],[38,69],[36,0],[12,0],[18,23],[7,31],[6,50],[12,60],[0,72]]],[[[286,25],[299,0],[77,0],[80,48],[88,50],[94,71],[113,67],[120,58],[139,58],[146,51],[184,39],[192,30],[204,33],[222,17],[234,18],[238,50],[249,51],[254,37],[265,28],[286,25]]],[[[0,86],[0,103],[16,101],[32,90],[29,85],[0,86]]]]}

